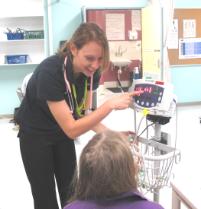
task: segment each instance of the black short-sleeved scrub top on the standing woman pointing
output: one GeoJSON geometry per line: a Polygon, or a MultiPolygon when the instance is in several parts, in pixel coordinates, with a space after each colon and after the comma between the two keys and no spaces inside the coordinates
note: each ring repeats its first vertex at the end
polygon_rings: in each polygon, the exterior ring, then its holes
{"type": "MultiPolygon", "coordinates": [[[[63,63],[63,58],[59,57],[59,55],[53,55],[42,61],[35,69],[28,82],[26,95],[16,116],[20,132],[29,134],[64,134],[47,105],[47,101],[61,100],[65,100],[69,105],[64,81],[63,63]]],[[[84,95],[86,79],[88,79],[87,88],[90,89],[90,79],[84,74],[74,79],[70,59],[67,59],[66,66],[67,79],[70,85],[74,83],[79,103],[84,95]]],[[[93,76],[93,90],[97,89],[99,80],[100,71],[97,70],[93,76]]],[[[73,116],[75,119],[77,118],[75,111],[73,116]]]]}

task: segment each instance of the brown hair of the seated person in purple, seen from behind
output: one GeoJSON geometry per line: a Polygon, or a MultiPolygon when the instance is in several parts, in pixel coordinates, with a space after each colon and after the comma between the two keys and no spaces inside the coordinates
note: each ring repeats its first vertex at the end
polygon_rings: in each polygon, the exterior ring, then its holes
{"type": "Polygon", "coordinates": [[[128,141],[122,134],[96,134],[83,149],[70,201],[105,200],[137,189],[136,169],[128,141]]]}

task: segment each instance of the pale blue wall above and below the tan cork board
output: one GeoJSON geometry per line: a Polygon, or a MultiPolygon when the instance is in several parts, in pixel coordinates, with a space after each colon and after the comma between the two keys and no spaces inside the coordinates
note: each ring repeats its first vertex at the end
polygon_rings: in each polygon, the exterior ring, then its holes
{"type": "MultiPolygon", "coordinates": [[[[201,8],[200,1],[175,0],[175,8],[201,8]]],[[[178,103],[201,102],[201,66],[171,66],[171,80],[178,103]]]]}

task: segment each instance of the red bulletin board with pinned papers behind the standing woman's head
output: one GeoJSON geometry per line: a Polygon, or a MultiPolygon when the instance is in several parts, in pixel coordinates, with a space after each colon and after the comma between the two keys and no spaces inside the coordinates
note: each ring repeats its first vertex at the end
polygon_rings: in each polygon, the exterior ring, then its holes
{"type": "Polygon", "coordinates": [[[109,43],[110,61],[113,64],[102,73],[101,82],[115,86],[118,69],[122,65],[120,80],[122,85],[129,86],[135,67],[138,67],[140,75],[142,74],[141,9],[109,7],[82,9],[84,22],[99,25],[105,31],[109,43]]]}

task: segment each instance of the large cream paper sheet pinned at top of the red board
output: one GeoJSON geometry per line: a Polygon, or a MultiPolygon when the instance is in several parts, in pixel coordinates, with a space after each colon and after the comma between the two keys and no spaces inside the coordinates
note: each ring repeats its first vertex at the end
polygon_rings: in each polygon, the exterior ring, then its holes
{"type": "Polygon", "coordinates": [[[125,14],[106,14],[105,24],[108,40],[125,40],[125,14]]]}

